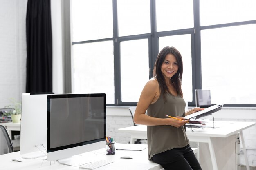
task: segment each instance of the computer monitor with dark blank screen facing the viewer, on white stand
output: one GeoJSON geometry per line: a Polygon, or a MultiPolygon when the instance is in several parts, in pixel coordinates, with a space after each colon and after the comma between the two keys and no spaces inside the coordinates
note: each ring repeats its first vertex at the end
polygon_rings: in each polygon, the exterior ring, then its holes
{"type": "Polygon", "coordinates": [[[72,157],[106,146],[106,94],[47,96],[47,160],[80,166],[72,157]]]}

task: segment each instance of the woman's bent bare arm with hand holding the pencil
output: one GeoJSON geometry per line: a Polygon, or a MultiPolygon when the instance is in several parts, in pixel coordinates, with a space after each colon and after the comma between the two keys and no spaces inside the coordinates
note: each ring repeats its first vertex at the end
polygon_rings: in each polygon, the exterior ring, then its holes
{"type": "Polygon", "coordinates": [[[156,118],[146,115],[148,106],[159,97],[159,85],[156,80],[150,80],[145,85],[139,98],[133,121],[135,124],[144,124],[148,126],[155,125],[171,125],[180,127],[186,124],[189,120],[184,120],[184,117],[177,117],[181,120],[173,118],[156,118]]]}

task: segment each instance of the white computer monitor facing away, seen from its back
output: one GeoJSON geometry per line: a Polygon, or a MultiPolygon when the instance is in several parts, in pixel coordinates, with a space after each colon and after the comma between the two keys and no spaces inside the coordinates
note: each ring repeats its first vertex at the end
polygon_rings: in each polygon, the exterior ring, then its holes
{"type": "MultiPolygon", "coordinates": [[[[43,147],[47,148],[47,95],[22,93],[20,154],[42,150],[46,155],[43,147]]],[[[29,158],[27,156],[25,158],[29,158]]]]}

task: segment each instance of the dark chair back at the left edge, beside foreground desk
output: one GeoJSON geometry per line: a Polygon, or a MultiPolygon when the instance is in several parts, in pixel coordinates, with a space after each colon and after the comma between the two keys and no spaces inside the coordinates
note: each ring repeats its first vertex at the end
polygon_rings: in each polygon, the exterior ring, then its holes
{"type": "Polygon", "coordinates": [[[11,139],[6,128],[0,125],[0,155],[14,152],[11,139]]]}

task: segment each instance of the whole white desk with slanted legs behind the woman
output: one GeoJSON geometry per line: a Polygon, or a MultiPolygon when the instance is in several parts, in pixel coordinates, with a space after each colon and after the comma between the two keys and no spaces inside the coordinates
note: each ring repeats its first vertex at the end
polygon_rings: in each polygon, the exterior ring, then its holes
{"type": "MultiPolygon", "coordinates": [[[[209,123],[212,124],[213,122],[209,122],[209,123]]],[[[227,137],[231,137],[232,135],[236,135],[240,133],[240,138],[243,144],[243,152],[245,155],[246,167],[247,167],[247,170],[249,170],[249,162],[247,158],[247,151],[245,148],[245,141],[243,138],[242,130],[254,125],[255,125],[255,122],[215,121],[216,128],[209,127],[204,129],[195,129],[194,132],[192,132],[190,128],[186,128],[186,133],[187,133],[187,136],[189,137],[189,141],[191,142],[193,141],[193,142],[208,143],[213,170],[218,170],[218,166],[217,166],[217,161],[216,161],[216,156],[215,156],[212,141],[216,138],[227,138],[227,137]]],[[[120,128],[118,130],[122,132],[130,133],[131,143],[134,143],[134,139],[147,139],[147,126],[145,125],[130,126],[126,128],[120,128]]],[[[220,147],[223,147],[223,146],[220,146],[220,147]]]]}

